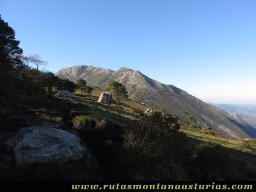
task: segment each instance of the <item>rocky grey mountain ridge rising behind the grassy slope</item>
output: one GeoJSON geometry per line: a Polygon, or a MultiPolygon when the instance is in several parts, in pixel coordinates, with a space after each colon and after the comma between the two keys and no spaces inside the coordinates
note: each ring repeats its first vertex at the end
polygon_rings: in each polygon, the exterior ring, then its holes
{"type": "Polygon", "coordinates": [[[88,85],[101,89],[106,88],[110,80],[120,81],[126,86],[129,98],[132,100],[144,102],[147,106],[157,109],[165,109],[181,119],[185,119],[190,114],[195,117],[197,125],[211,127],[224,136],[234,138],[256,136],[254,128],[242,119],[237,119],[213,105],[206,104],[180,88],[152,80],[140,71],[125,67],[112,71],[83,65],[64,68],[58,71],[56,76],[72,81],[83,78],[88,85]]]}

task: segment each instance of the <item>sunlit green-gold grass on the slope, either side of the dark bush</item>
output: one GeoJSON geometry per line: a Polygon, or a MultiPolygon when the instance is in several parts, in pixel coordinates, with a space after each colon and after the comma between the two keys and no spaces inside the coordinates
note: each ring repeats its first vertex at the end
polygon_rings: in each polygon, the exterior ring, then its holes
{"type": "MultiPolygon", "coordinates": [[[[148,108],[152,109],[152,107],[141,105],[138,102],[130,99],[123,100],[120,107],[118,107],[115,103],[111,105],[99,104],[97,100],[99,99],[101,92],[102,90],[93,89],[91,99],[88,99],[88,95],[81,96],[80,91],[77,90],[75,94],[77,95],[78,100],[73,101],[75,105],[72,108],[72,116],[82,114],[97,116],[125,126],[135,123],[137,115],[134,111],[144,112],[148,108]]],[[[181,124],[180,131],[184,132],[188,137],[194,139],[256,154],[256,139],[230,139],[221,136],[219,132],[209,129],[200,129],[198,127],[196,128],[185,123],[181,124]]]]}

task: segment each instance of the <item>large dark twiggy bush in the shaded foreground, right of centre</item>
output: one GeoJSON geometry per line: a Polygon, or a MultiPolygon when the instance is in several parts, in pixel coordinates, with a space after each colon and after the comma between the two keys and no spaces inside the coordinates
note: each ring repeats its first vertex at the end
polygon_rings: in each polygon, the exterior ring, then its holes
{"type": "Polygon", "coordinates": [[[184,151],[179,127],[179,120],[167,113],[141,116],[124,135],[126,169],[147,180],[185,179],[184,170],[175,163],[184,151]]]}

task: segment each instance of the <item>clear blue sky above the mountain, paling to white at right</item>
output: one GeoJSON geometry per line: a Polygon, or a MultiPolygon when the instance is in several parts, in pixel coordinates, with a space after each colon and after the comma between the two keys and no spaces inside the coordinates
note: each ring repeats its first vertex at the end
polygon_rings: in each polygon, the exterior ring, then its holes
{"type": "Polygon", "coordinates": [[[207,102],[256,104],[256,1],[12,1],[0,14],[24,55],[139,70],[207,102]]]}

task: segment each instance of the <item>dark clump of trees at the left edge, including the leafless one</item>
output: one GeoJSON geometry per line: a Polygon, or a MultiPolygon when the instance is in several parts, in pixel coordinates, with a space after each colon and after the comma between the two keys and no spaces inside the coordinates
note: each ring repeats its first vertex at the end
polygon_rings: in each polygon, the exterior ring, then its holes
{"type": "Polygon", "coordinates": [[[46,90],[52,92],[65,89],[75,91],[75,83],[61,80],[52,72],[42,72],[45,66],[39,56],[22,56],[19,41],[15,40],[15,33],[8,23],[0,16],[0,103],[23,102],[31,98],[46,97],[46,90]],[[29,66],[33,63],[36,68],[29,66]]]}

